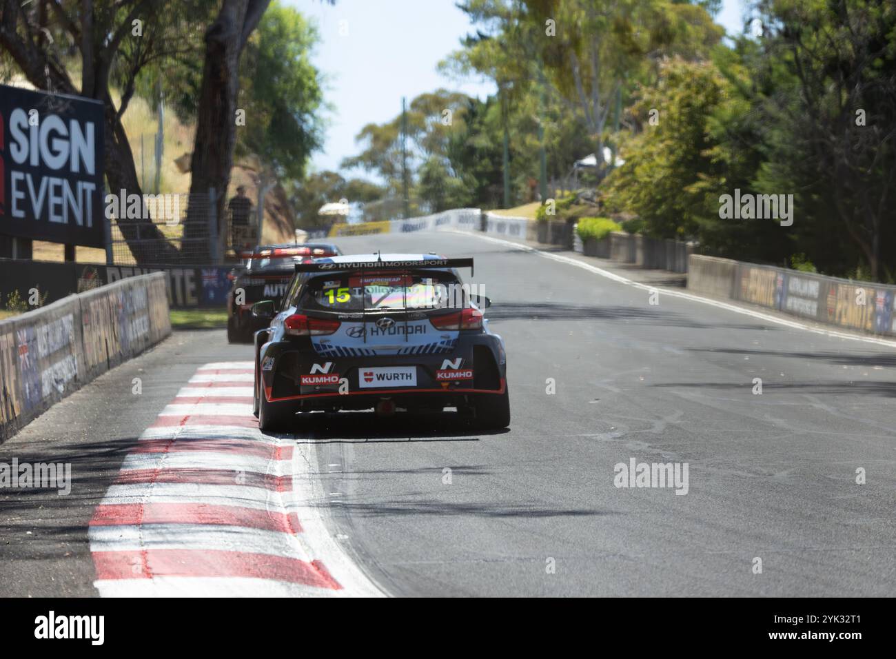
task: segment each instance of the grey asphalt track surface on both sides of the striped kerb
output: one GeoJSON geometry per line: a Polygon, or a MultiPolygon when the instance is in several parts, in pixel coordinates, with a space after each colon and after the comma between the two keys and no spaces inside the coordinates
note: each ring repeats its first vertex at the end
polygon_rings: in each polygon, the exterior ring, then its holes
{"type": "MultiPolygon", "coordinates": [[[[339,574],[392,595],[896,592],[892,347],[664,291],[650,304],[478,236],[337,242],[474,256],[512,410],[491,434],[351,413],[278,439],[314,460],[305,505],[339,574]],[[686,494],[616,487],[632,459],[686,464],[686,494]]],[[[0,595],[97,594],[88,525],[125,455],[203,364],[250,359],[223,331],[177,333],[0,447],[0,462],[71,462],[74,481],[66,497],[0,490],[0,595]]]]}

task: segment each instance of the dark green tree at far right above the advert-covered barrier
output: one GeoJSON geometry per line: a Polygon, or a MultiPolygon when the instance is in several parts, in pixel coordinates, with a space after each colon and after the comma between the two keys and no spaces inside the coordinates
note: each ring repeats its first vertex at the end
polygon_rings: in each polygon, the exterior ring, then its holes
{"type": "Polygon", "coordinates": [[[757,12],[754,102],[767,144],[757,185],[795,195],[795,227],[825,269],[844,273],[857,258],[874,281],[884,269],[892,278],[896,5],[763,0],[757,12]]]}

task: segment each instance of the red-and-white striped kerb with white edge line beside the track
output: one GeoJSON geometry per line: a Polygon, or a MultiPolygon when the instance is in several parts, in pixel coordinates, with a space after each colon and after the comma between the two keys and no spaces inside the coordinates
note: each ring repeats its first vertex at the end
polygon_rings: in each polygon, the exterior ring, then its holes
{"type": "Polygon", "coordinates": [[[252,362],[198,369],[90,521],[103,596],[383,593],[327,532],[314,447],[266,435],[252,362]]]}

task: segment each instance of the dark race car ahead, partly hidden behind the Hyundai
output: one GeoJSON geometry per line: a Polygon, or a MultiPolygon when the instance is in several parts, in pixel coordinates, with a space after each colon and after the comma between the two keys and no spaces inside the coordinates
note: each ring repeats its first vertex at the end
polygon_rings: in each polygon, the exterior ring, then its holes
{"type": "Polygon", "coordinates": [[[271,299],[279,306],[296,272],[295,264],[341,253],[331,243],[306,243],[264,245],[252,254],[242,255],[244,265],[237,266],[229,275],[233,285],[227,296],[228,343],[250,343],[255,330],[267,327],[267,322],[252,316],[252,305],[260,299],[271,299]]]}

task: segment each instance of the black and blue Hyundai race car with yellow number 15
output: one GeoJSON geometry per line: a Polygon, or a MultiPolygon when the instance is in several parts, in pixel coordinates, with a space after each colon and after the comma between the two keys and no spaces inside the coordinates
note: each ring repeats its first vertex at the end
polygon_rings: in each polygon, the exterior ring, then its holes
{"type": "Polygon", "coordinates": [[[254,413],[289,431],[297,412],[391,415],[456,407],[479,427],[510,423],[504,341],[487,298],[455,268],[471,258],[355,255],[297,264],[282,303],[257,302],[254,413]]]}

